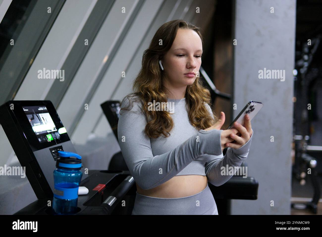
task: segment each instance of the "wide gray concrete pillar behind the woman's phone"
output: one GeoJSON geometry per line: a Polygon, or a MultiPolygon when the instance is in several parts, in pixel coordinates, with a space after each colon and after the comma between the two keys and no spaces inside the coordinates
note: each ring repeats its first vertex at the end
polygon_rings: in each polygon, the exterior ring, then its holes
{"type": "Polygon", "coordinates": [[[250,100],[264,106],[251,122],[246,160],[258,199],[232,200],[232,214],[290,214],[296,1],[236,0],[234,9],[233,117],[250,100]],[[284,78],[260,79],[264,68],[282,70],[284,78]]]}

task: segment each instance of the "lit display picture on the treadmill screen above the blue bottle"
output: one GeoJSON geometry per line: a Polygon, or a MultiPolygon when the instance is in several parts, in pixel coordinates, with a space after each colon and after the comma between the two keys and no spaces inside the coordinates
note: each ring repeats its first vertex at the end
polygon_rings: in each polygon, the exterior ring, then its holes
{"type": "Polygon", "coordinates": [[[23,110],[40,143],[60,139],[56,125],[46,107],[26,106],[23,107],[23,110]]]}

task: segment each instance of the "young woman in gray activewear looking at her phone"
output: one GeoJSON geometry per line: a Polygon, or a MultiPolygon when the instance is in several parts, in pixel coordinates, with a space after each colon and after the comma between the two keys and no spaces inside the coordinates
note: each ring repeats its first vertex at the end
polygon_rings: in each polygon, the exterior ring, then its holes
{"type": "Polygon", "coordinates": [[[221,175],[221,167],[247,158],[248,115],[245,127],[220,130],[225,115],[214,115],[199,79],[202,46],[198,27],[184,20],[162,25],[143,54],[134,93],[122,100],[118,142],[137,185],[132,215],[216,215],[208,182],[226,183],[232,175],[221,175]]]}

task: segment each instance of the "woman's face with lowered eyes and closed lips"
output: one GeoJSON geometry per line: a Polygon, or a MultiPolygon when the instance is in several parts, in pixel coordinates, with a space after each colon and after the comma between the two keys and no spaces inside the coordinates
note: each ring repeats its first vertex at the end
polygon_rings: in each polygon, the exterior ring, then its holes
{"type": "Polygon", "coordinates": [[[194,83],[201,66],[201,55],[202,42],[199,35],[194,30],[179,28],[170,50],[161,59],[171,87],[186,87],[194,83]],[[189,72],[194,75],[187,76],[189,72]]]}

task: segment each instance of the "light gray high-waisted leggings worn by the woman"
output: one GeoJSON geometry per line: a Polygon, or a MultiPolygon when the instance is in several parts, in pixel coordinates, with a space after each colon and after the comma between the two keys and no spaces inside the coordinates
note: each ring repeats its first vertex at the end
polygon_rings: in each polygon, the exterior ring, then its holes
{"type": "Polygon", "coordinates": [[[207,184],[203,191],[181,198],[157,198],[136,194],[132,215],[218,215],[207,184]]]}

